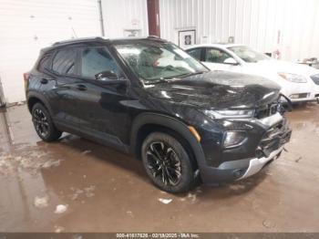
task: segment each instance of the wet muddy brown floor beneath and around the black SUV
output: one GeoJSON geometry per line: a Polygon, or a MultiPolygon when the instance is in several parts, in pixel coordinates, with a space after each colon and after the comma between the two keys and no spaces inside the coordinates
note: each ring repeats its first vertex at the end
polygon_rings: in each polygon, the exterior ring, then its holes
{"type": "Polygon", "coordinates": [[[176,196],[121,152],[73,135],[39,140],[26,106],[9,108],[0,113],[0,231],[319,232],[319,105],[288,118],[287,151],[259,174],[176,196]]]}

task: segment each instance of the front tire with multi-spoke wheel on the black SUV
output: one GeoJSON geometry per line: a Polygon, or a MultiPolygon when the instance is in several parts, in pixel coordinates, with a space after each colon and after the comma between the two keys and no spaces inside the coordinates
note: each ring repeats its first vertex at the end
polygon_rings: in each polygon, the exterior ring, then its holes
{"type": "Polygon", "coordinates": [[[165,192],[188,192],[193,186],[194,166],[180,142],[162,132],[143,141],[142,161],[151,181],[165,192]]]}

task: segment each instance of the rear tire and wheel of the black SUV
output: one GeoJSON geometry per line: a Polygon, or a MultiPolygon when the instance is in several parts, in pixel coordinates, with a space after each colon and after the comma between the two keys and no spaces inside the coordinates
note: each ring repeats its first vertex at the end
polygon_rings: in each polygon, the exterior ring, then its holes
{"type": "Polygon", "coordinates": [[[32,108],[32,122],[37,135],[46,142],[58,140],[62,134],[57,130],[49,112],[41,103],[36,103],[32,108]]]}

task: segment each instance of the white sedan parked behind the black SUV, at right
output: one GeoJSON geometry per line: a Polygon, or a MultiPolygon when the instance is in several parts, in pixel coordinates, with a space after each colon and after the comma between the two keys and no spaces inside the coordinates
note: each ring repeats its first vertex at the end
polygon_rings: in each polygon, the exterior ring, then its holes
{"type": "Polygon", "coordinates": [[[186,51],[211,70],[227,70],[269,78],[282,87],[281,92],[292,102],[319,100],[318,69],[276,60],[242,45],[197,45],[186,51]]]}

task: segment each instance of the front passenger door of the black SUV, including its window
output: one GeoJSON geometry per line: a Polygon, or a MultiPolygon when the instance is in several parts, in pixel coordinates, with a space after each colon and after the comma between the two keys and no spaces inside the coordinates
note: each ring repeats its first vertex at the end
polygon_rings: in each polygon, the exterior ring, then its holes
{"type": "Polygon", "coordinates": [[[129,128],[129,113],[125,106],[127,85],[108,84],[96,75],[113,71],[118,78],[126,78],[111,57],[107,47],[83,47],[80,50],[81,90],[77,93],[78,117],[82,129],[94,137],[120,144],[129,128]]]}

